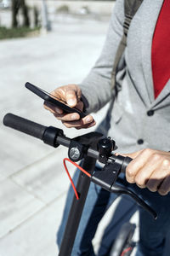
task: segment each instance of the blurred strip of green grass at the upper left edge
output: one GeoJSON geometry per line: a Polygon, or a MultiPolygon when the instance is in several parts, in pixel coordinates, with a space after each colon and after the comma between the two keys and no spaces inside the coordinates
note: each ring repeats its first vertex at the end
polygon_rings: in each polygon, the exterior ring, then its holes
{"type": "Polygon", "coordinates": [[[24,38],[31,34],[39,32],[40,28],[29,28],[29,27],[14,27],[7,28],[4,26],[0,26],[0,40],[9,39],[9,38],[24,38]]]}

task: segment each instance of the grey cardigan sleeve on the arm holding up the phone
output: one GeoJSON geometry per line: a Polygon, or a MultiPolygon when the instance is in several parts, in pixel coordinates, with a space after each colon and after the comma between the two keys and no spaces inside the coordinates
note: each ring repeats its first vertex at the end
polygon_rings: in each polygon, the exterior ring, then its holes
{"type": "Polygon", "coordinates": [[[99,59],[79,84],[82,89],[82,101],[85,112],[97,112],[111,100],[111,71],[116,55],[116,49],[122,39],[124,21],[124,1],[116,0],[111,14],[111,21],[105,44],[99,59]]]}

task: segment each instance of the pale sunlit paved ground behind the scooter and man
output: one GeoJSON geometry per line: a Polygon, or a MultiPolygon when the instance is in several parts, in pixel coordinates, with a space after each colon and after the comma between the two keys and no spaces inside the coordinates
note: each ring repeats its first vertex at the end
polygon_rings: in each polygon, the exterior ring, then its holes
{"type": "MultiPolygon", "coordinates": [[[[99,55],[108,22],[61,21],[46,35],[0,42],[1,120],[10,112],[64,128],[24,84],[30,81],[50,91],[79,83],[99,55]]],[[[98,124],[105,111],[94,115],[98,124]]],[[[68,137],[84,132],[64,131],[68,137]]],[[[0,137],[0,256],[57,255],[55,233],[68,187],[62,166],[67,150],[50,148],[2,122],[0,137]]],[[[96,248],[104,226],[105,221],[94,240],[96,248]]]]}

